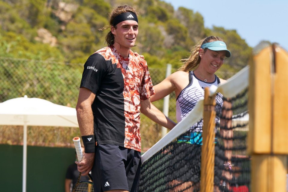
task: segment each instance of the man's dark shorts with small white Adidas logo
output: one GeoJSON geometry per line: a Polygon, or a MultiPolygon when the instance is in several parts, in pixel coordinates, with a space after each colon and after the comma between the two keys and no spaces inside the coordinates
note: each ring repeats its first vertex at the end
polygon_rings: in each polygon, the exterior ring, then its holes
{"type": "Polygon", "coordinates": [[[134,191],[139,182],[141,153],[118,145],[97,145],[92,168],[95,192],[134,191]]]}

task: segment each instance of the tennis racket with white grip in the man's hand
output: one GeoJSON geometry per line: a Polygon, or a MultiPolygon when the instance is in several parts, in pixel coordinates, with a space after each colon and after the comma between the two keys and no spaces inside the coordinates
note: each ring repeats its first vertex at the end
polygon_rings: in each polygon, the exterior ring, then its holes
{"type": "MultiPolygon", "coordinates": [[[[83,158],[83,152],[82,152],[82,147],[81,147],[81,143],[80,143],[80,138],[74,137],[73,142],[75,145],[78,161],[80,162],[80,161],[82,161],[82,158],[83,158]]],[[[80,172],[77,183],[73,189],[73,192],[94,192],[93,180],[92,180],[90,173],[88,173],[88,177],[90,178],[91,181],[80,181],[80,178],[81,178],[81,172],[80,172]]]]}

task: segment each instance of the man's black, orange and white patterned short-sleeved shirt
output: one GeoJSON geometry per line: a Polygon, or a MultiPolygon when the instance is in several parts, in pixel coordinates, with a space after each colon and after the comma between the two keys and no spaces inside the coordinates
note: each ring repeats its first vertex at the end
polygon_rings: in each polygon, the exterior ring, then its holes
{"type": "Polygon", "coordinates": [[[85,62],[81,87],[96,94],[92,104],[96,145],[141,152],[140,101],[155,94],[147,62],[131,50],[124,58],[107,46],[85,62]]]}

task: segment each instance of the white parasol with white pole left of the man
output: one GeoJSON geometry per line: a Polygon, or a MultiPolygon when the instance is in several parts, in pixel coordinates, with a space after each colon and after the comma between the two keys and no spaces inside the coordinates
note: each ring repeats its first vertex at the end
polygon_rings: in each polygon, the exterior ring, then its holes
{"type": "Polygon", "coordinates": [[[23,183],[26,191],[27,126],[78,127],[76,109],[26,95],[0,103],[0,125],[23,125],[23,183]]]}

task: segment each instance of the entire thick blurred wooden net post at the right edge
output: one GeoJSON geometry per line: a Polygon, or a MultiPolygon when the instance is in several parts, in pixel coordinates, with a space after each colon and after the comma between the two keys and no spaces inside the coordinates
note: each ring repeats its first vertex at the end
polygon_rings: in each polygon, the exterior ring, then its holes
{"type": "Polygon", "coordinates": [[[252,192],[285,192],[288,154],[288,54],[272,45],[253,57],[248,152],[252,192]]]}

